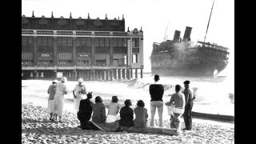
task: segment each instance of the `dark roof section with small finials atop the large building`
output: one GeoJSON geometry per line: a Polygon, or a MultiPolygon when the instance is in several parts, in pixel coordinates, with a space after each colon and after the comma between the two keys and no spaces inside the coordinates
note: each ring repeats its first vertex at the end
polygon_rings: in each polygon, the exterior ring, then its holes
{"type": "Polygon", "coordinates": [[[114,18],[105,19],[90,18],[52,18],[42,17],[26,17],[22,15],[23,30],[94,30],[94,31],[125,31],[125,19],[114,18]]]}

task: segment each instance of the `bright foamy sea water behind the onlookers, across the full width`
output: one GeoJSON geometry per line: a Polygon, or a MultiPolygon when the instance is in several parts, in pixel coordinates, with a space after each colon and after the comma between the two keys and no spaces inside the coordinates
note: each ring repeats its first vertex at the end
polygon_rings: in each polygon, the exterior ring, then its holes
{"type": "MultiPolygon", "coordinates": [[[[159,83],[165,88],[163,101],[170,101],[169,94],[174,94],[175,85],[179,84],[183,87],[183,82],[190,80],[190,88],[194,90],[196,99],[194,100],[193,111],[208,113],[208,114],[225,114],[234,115],[234,79],[226,76],[218,77],[168,77],[160,76],[159,83]]],[[[66,86],[68,88],[68,94],[65,99],[72,100],[72,90],[78,82],[68,81],[66,86]]],[[[142,99],[145,102],[145,107],[150,114],[150,94],[149,86],[154,83],[154,76],[151,74],[143,74],[143,78],[138,79],[120,79],[113,81],[85,81],[87,92],[93,92],[94,98],[101,96],[104,103],[111,101],[111,97],[118,96],[119,102],[123,105],[126,99],[132,101],[132,108],[136,106],[138,100],[142,99]]],[[[22,80],[22,101],[35,98],[34,103],[45,103],[46,105],[48,94],[46,93],[48,86],[50,86],[50,80],[22,80]],[[25,90],[26,89],[26,90],[25,90]],[[24,95],[30,95],[30,97],[24,97],[24,95]],[[25,99],[26,98],[26,99],[25,99]]],[[[94,101],[94,98],[92,101],[94,101]]],[[[69,102],[70,108],[73,106],[72,101],[69,102]]],[[[68,105],[66,105],[68,106],[68,105]]],[[[167,107],[164,106],[164,114],[167,115],[167,107]]],[[[155,114],[158,118],[158,114],[155,114]]]]}

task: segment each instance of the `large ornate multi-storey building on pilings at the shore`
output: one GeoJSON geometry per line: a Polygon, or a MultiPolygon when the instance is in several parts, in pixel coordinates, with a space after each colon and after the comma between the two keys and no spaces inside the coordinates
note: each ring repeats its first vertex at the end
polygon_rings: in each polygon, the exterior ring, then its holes
{"type": "Polygon", "coordinates": [[[22,15],[22,78],[142,78],[143,31],[125,18],[22,15]],[[133,76],[134,75],[134,76],[133,76]]]}

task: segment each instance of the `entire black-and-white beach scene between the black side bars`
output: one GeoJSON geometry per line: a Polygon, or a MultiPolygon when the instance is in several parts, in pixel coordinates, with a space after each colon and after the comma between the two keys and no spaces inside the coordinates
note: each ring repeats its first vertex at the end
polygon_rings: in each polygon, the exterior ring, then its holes
{"type": "Polygon", "coordinates": [[[234,144],[233,0],[22,0],[22,143],[234,144]]]}

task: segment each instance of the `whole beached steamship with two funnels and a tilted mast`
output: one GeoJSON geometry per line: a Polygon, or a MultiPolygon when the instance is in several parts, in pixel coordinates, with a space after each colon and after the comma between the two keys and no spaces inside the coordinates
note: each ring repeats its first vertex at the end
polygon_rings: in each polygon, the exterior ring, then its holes
{"type": "Polygon", "coordinates": [[[191,42],[191,30],[192,27],[186,26],[183,39],[180,38],[181,32],[175,30],[173,40],[153,43],[150,56],[151,74],[213,76],[226,68],[230,54],[229,48],[218,46],[216,43],[205,42],[206,36],[203,42],[191,42]]]}

